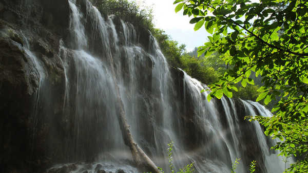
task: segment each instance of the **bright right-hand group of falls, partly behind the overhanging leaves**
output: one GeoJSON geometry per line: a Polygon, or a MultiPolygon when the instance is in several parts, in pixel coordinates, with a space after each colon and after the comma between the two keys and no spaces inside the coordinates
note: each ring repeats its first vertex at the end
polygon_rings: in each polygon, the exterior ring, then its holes
{"type": "MultiPolygon", "coordinates": [[[[247,148],[242,145],[244,134],[243,125],[240,125],[237,106],[233,99],[221,99],[222,109],[219,107],[217,101],[207,102],[205,98],[208,92],[200,93],[202,90],[208,89],[196,79],[189,77],[185,72],[184,82],[187,85],[188,97],[193,101],[195,120],[201,122],[198,127],[203,132],[201,139],[196,139],[202,149],[199,149],[197,155],[203,155],[204,158],[211,158],[210,161],[201,162],[194,159],[197,164],[197,169],[200,172],[227,172],[230,169],[229,161],[235,162],[236,158],[246,158],[247,148]],[[222,111],[224,113],[222,113],[222,111]],[[223,115],[223,116],[222,116],[223,115]],[[214,154],[214,155],[213,155],[214,154]],[[213,155],[213,156],[211,156],[213,155]],[[214,158],[213,158],[214,157],[214,158]],[[229,159],[229,160],[228,160],[229,159]]],[[[244,106],[244,115],[263,115],[271,116],[271,112],[265,109],[257,102],[239,100],[244,106]]],[[[186,101],[187,102],[187,101],[186,101]]],[[[277,153],[269,151],[269,147],[274,144],[274,141],[266,139],[263,130],[258,122],[253,123],[253,132],[257,137],[261,149],[261,158],[264,160],[264,172],[282,172],[285,168],[285,163],[281,157],[277,157],[277,153]]],[[[253,141],[252,141],[253,142],[253,141]]],[[[256,154],[257,155],[257,154],[256,154]]],[[[193,158],[196,156],[193,156],[193,158]]],[[[253,158],[249,158],[253,159],[253,158]]],[[[290,159],[291,160],[291,159],[290,159]]],[[[240,161],[237,167],[238,172],[246,172],[248,170],[247,160],[240,161]],[[243,163],[244,162],[244,163],[243,163]],[[244,165],[246,164],[246,165],[244,165]]],[[[249,160],[248,160],[249,162],[249,160]]],[[[292,161],[291,161],[292,162],[292,161]]],[[[259,163],[260,164],[260,163],[259,163]]],[[[260,165],[259,165],[260,166],[260,165]]]]}

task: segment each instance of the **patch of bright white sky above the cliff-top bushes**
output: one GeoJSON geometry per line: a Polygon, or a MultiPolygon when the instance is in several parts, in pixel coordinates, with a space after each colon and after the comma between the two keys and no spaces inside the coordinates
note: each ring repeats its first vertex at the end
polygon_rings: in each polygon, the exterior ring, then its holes
{"type": "Polygon", "coordinates": [[[146,6],[152,7],[155,27],[163,29],[179,44],[185,44],[187,51],[202,46],[210,35],[203,27],[194,31],[194,25],[189,24],[192,16],[183,16],[183,10],[176,13],[174,0],[136,0],[136,2],[141,4],[143,2],[146,6]]]}

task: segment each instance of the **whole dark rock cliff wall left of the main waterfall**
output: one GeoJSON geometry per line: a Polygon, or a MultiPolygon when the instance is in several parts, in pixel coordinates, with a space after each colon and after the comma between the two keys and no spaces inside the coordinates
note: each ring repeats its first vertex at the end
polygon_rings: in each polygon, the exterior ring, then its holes
{"type": "MultiPolygon", "coordinates": [[[[32,172],[50,162],[45,157],[45,135],[49,127],[42,124],[33,128],[32,100],[35,100],[38,88],[43,83],[40,83],[40,74],[25,48],[30,45],[28,49],[46,69],[49,78],[44,84],[52,86],[51,91],[61,94],[64,73],[61,60],[56,56],[59,39],[62,37],[58,34],[61,32],[52,27],[44,27],[41,19],[42,9],[48,7],[48,10],[52,11],[53,8],[59,8],[62,12],[55,11],[62,15],[61,21],[66,20],[66,24],[59,23],[54,26],[66,30],[69,10],[65,10],[64,2],[67,1],[63,1],[58,7],[55,3],[42,5],[40,1],[0,1],[0,136],[5,139],[0,140],[0,164],[4,165],[0,167],[0,172],[32,172]],[[22,3],[27,2],[33,3],[35,7],[28,9],[30,17],[20,10],[25,5],[22,3]],[[31,24],[29,30],[21,29],[26,17],[29,17],[27,20],[31,24]],[[37,133],[35,138],[34,129],[37,133]]],[[[57,100],[55,104],[61,104],[61,100],[57,100]]],[[[59,110],[54,109],[51,112],[57,114],[59,110]]]]}

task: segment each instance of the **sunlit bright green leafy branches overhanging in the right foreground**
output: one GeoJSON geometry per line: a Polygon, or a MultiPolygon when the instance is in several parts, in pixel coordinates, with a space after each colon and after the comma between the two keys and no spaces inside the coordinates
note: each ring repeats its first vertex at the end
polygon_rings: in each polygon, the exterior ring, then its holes
{"type": "Polygon", "coordinates": [[[274,148],[295,156],[288,171],[308,169],[308,2],[303,0],[176,0],[175,11],[193,16],[195,30],[212,34],[198,54],[218,51],[229,69],[210,84],[212,97],[232,97],[235,83],[254,84],[251,73],[264,84],[257,101],[268,104],[280,98],[273,117],[249,117],[278,138],[274,148]],[[221,37],[223,36],[223,37],[221,37]]]}

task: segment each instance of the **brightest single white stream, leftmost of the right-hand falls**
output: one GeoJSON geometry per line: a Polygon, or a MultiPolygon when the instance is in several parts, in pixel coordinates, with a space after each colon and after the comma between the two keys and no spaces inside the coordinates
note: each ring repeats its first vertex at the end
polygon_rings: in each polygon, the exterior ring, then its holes
{"type": "Polygon", "coordinates": [[[201,156],[198,157],[209,156],[211,158],[209,159],[210,161],[206,160],[205,163],[198,164],[201,165],[198,170],[200,172],[227,172],[229,170],[229,159],[235,161],[236,157],[239,158],[239,156],[235,156],[234,147],[227,139],[228,134],[223,129],[219,110],[217,110],[214,101],[207,102],[205,99],[209,94],[208,92],[200,92],[208,89],[206,85],[191,78],[185,72],[183,73],[185,85],[187,85],[186,93],[190,93],[189,99],[192,101],[193,121],[196,122],[197,128],[201,131],[200,136],[196,139],[196,142],[199,143],[199,148],[195,153],[200,153],[199,155],[201,156]]]}

